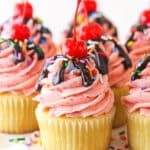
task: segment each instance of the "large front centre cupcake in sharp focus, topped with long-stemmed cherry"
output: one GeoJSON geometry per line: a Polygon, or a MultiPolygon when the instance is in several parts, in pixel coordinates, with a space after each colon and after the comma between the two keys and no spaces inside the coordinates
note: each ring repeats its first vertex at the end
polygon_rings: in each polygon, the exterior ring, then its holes
{"type": "Polygon", "coordinates": [[[84,41],[66,39],[63,55],[47,60],[38,83],[36,117],[44,150],[108,149],[113,92],[107,75],[88,57],[84,41]]]}

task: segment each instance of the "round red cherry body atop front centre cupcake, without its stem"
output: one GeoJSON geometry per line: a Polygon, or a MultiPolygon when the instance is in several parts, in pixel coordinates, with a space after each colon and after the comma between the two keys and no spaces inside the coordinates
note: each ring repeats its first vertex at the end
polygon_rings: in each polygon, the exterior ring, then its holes
{"type": "Polygon", "coordinates": [[[87,47],[84,41],[68,38],[63,44],[62,52],[64,55],[82,58],[87,56],[87,47]]]}

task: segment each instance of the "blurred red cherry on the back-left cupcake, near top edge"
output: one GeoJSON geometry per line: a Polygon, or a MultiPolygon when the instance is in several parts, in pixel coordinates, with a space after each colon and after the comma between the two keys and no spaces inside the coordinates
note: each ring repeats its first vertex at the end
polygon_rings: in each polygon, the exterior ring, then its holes
{"type": "Polygon", "coordinates": [[[33,7],[29,2],[17,3],[14,9],[14,17],[23,16],[24,18],[32,18],[33,7]]]}

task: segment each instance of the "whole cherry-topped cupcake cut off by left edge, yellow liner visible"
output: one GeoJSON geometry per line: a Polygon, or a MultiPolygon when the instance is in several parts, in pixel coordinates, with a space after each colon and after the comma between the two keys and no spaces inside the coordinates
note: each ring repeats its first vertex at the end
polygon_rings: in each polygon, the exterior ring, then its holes
{"type": "Polygon", "coordinates": [[[27,133],[38,129],[35,84],[45,59],[40,47],[28,40],[29,29],[12,26],[9,39],[0,40],[0,132],[27,133]]]}

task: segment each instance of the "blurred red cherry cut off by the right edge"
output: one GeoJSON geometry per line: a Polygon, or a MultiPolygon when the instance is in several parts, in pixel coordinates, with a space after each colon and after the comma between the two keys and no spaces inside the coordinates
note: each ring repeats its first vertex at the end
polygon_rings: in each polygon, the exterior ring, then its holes
{"type": "Polygon", "coordinates": [[[139,22],[142,25],[148,25],[150,24],[150,10],[144,10],[139,17],[139,22]]]}

